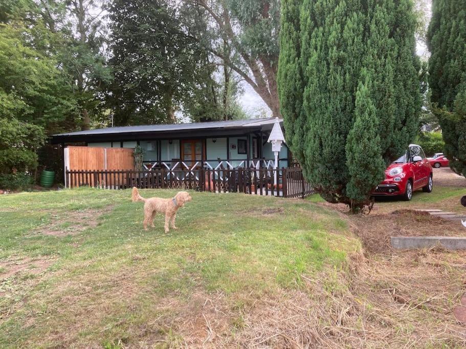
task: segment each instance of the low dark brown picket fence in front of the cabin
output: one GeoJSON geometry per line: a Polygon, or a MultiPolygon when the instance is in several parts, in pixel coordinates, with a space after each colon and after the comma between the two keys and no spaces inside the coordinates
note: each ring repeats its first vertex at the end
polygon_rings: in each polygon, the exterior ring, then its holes
{"type": "Polygon", "coordinates": [[[66,188],[96,187],[103,189],[184,189],[216,193],[246,193],[287,198],[313,194],[301,168],[273,169],[196,169],[150,171],[134,170],[68,170],[66,188]],[[277,184],[278,182],[278,184],[277,184]]]}

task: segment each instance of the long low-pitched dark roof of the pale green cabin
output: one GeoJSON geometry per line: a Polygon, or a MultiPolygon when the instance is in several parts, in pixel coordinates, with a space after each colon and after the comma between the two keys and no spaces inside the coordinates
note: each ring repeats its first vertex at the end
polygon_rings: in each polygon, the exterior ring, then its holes
{"type": "Polygon", "coordinates": [[[77,131],[54,134],[52,143],[62,142],[89,142],[96,139],[129,139],[140,137],[161,138],[175,137],[178,134],[187,135],[216,135],[227,134],[229,131],[237,130],[236,134],[249,130],[269,130],[272,128],[275,118],[267,119],[247,119],[230,121],[209,121],[190,124],[162,124],[162,125],[141,125],[141,126],[120,126],[106,127],[95,130],[77,131]],[[242,131],[241,131],[242,130],[242,131]]]}

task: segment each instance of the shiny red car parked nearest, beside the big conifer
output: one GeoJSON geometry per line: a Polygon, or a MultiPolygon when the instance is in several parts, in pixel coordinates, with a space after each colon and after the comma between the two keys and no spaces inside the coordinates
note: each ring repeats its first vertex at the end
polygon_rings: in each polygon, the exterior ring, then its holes
{"type": "Polygon", "coordinates": [[[406,153],[397,158],[385,170],[385,180],[380,183],[373,195],[400,195],[409,201],[413,191],[422,189],[432,192],[432,166],[424,151],[416,144],[410,144],[406,153]]]}

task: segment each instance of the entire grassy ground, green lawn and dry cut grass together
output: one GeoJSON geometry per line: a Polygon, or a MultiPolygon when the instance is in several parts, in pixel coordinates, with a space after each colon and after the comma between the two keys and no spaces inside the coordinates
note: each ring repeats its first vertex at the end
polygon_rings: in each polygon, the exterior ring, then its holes
{"type": "Polygon", "coordinates": [[[192,192],[169,234],[162,216],[143,230],[128,190],[4,195],[0,347],[464,347],[466,252],[389,237],[460,234],[391,212],[453,210],[465,190],[352,217],[317,196],[192,192]]]}

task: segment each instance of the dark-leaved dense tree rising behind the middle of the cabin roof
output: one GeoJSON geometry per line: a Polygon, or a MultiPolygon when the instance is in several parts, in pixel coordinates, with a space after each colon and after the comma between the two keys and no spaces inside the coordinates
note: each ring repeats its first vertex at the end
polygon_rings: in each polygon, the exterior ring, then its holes
{"type": "Polygon", "coordinates": [[[187,35],[175,2],[115,0],[109,13],[116,124],[174,123],[176,107],[210,79],[206,50],[187,35]]]}

